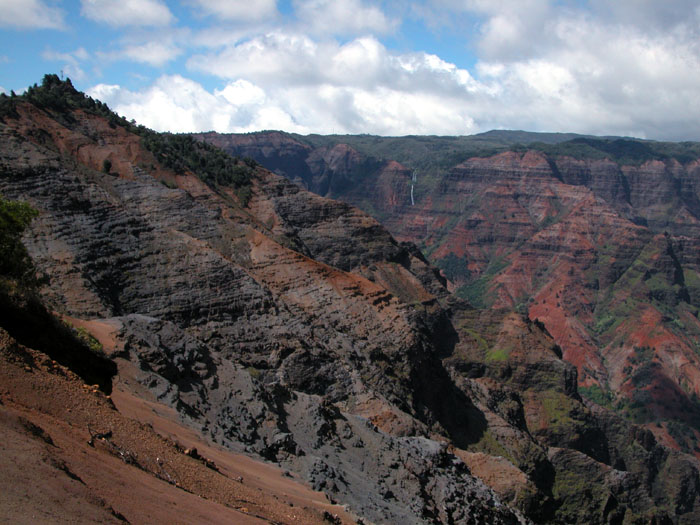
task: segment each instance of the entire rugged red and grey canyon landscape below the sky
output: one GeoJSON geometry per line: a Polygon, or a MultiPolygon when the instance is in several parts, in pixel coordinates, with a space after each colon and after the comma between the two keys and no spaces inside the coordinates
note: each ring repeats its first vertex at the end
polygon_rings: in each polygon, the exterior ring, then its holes
{"type": "Polygon", "coordinates": [[[156,134],[51,75],[0,110],[0,193],[37,210],[3,516],[700,517],[693,162],[156,134]]]}

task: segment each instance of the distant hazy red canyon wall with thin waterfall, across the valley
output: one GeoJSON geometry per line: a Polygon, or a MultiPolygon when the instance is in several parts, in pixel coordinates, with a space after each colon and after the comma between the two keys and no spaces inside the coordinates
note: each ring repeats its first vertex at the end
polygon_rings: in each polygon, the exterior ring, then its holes
{"type": "MultiPolygon", "coordinates": [[[[243,137],[204,138],[237,152],[243,137]]],[[[263,164],[274,155],[266,137],[245,147],[263,164]]],[[[294,162],[275,169],[297,180],[304,165],[300,182],[314,191],[309,181],[321,172],[353,181],[329,193],[418,243],[471,304],[540,320],[588,397],[694,451],[698,144],[518,132],[418,139],[278,134],[298,147],[285,149],[294,162]],[[361,177],[310,160],[341,147],[357,148],[355,166],[383,160],[361,177]],[[499,148],[511,151],[493,155],[499,148]]]]}

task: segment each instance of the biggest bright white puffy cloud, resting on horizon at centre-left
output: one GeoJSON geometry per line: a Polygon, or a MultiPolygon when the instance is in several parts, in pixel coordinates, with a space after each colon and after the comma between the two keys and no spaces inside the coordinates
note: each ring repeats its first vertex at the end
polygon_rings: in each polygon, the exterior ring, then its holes
{"type": "Polygon", "coordinates": [[[159,130],[384,135],[476,132],[473,109],[489,96],[466,70],[392,54],[371,37],[341,46],[280,33],[238,47],[195,61],[227,81],[221,90],[163,76],[139,92],[99,85],[90,94],[159,130]]]}

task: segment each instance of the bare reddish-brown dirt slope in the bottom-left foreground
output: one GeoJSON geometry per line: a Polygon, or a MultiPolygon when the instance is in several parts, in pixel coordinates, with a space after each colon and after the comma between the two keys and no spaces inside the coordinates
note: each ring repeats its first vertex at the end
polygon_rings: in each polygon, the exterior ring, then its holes
{"type": "Polygon", "coordinates": [[[143,423],[125,417],[110,396],[4,330],[0,364],[3,520],[327,523],[325,515],[339,514],[354,522],[281,471],[263,478],[265,466],[217,454],[177,423],[167,427],[172,438],[164,439],[152,428],[158,416],[151,412],[143,423]],[[188,454],[191,448],[181,442],[197,445],[207,459],[188,454]],[[247,476],[236,475],[241,471],[247,476]],[[269,480],[277,481],[277,490],[269,480]]]}

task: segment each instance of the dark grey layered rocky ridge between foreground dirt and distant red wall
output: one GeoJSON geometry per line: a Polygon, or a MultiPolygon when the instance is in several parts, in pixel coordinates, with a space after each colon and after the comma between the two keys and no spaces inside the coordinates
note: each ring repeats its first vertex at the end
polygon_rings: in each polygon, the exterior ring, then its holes
{"type": "MultiPolygon", "coordinates": [[[[13,102],[0,192],[39,210],[24,244],[46,276],[43,301],[96,336],[111,327],[115,384],[213,443],[281,464],[358,522],[700,518],[697,460],[584,402],[548,321],[473,309],[357,208],[252,162],[247,193],[207,184],[200,168],[169,168],[126,121],[64,106],[13,102]]],[[[352,165],[346,153],[323,162],[352,165]]],[[[381,173],[390,191],[406,170],[381,173]]],[[[674,259],[669,243],[649,264],[674,259]]],[[[3,359],[30,362],[19,342],[3,343],[3,359]]],[[[32,366],[2,367],[3,406],[23,399],[15,385],[32,366]]],[[[306,522],[307,510],[271,519],[306,522]]]]}

